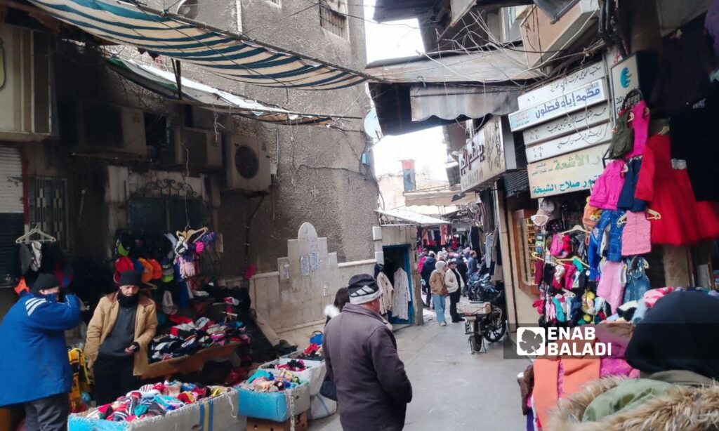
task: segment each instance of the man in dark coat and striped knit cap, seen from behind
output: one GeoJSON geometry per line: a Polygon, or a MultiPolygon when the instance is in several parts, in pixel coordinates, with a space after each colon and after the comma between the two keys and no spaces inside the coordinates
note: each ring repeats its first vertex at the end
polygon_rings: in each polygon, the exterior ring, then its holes
{"type": "Polygon", "coordinates": [[[349,304],[324,333],[327,375],[336,385],[342,429],[400,431],[412,384],[380,316],[382,292],[369,274],[352,277],[348,290],[349,304]]]}

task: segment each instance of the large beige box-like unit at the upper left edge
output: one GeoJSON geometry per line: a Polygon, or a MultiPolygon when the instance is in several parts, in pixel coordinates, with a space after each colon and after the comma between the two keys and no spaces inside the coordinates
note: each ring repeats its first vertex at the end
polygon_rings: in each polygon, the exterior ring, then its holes
{"type": "Polygon", "coordinates": [[[52,75],[49,34],[0,24],[0,141],[53,134],[52,75]]]}

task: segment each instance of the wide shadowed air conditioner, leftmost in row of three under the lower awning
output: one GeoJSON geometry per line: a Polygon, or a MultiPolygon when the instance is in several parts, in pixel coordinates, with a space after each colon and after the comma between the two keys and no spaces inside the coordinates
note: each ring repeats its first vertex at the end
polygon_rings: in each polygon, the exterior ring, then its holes
{"type": "Polygon", "coordinates": [[[60,136],[76,151],[147,157],[145,113],[142,110],[95,101],[62,105],[60,136]]]}

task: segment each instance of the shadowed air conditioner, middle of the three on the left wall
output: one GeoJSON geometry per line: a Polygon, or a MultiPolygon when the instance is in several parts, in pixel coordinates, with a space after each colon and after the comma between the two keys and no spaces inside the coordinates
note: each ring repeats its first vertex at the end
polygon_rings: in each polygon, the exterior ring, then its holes
{"type": "Polygon", "coordinates": [[[222,167],[222,135],[211,130],[175,127],[175,163],[191,167],[222,167]]]}

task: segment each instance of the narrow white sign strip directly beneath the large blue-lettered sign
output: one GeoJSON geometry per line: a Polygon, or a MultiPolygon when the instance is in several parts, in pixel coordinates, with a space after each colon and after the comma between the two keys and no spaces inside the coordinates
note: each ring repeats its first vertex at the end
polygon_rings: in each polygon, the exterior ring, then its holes
{"type": "Polygon", "coordinates": [[[591,108],[582,109],[567,116],[559,117],[559,119],[549,121],[548,123],[530,127],[522,132],[524,144],[539,144],[539,142],[549,141],[549,139],[555,139],[567,134],[579,133],[591,126],[606,123],[610,120],[610,112],[611,108],[609,105],[603,103],[592,106],[591,108]]]}

